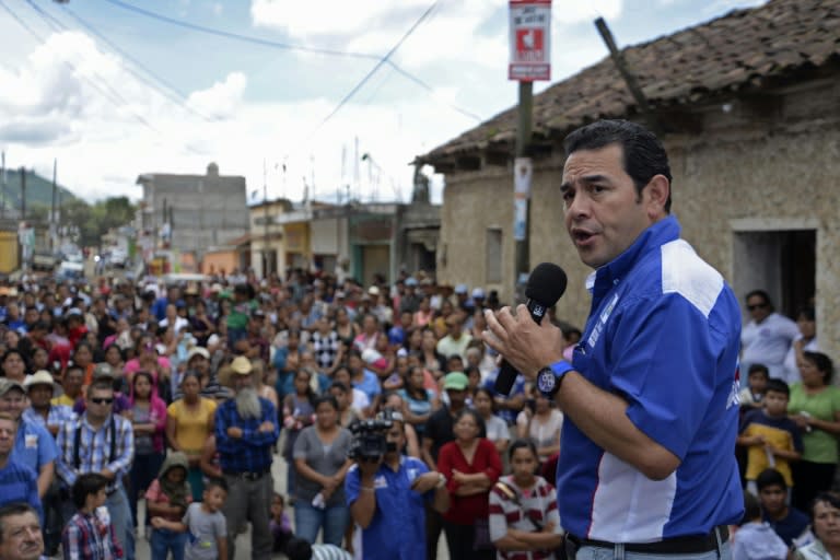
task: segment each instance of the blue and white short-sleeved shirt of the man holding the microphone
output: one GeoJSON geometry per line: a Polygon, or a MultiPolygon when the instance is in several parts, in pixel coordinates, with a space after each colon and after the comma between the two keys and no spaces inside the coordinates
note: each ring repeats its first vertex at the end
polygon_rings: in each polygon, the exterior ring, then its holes
{"type": "Polygon", "coordinates": [[[740,310],[732,289],[679,238],[673,217],[642,232],[587,287],[592,311],[574,370],[620,395],[628,419],[680,464],[651,480],[567,417],[557,469],[563,528],[650,542],[737,523],[740,310]]]}

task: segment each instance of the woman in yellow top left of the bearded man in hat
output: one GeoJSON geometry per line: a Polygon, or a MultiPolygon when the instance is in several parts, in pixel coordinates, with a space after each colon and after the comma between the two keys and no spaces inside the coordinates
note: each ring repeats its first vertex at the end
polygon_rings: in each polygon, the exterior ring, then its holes
{"type": "Polygon", "coordinates": [[[198,373],[188,371],[180,380],[183,397],[166,410],[166,439],[173,450],[187,455],[187,480],[195,501],[200,501],[203,492],[199,459],[205,442],[213,433],[217,408],[214,400],[199,396],[200,390],[201,380],[198,373]]]}

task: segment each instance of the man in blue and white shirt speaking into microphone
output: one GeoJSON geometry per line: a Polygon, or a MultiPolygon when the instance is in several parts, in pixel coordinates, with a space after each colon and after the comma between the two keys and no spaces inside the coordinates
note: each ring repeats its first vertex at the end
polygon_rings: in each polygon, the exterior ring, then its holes
{"type": "Polygon", "coordinates": [[[570,133],[565,153],[565,226],[595,270],[572,363],[560,329],[524,305],[488,313],[485,339],[565,413],[557,490],[567,551],[730,558],[726,525],[743,510],[737,300],[680,240],[653,133],[602,120],[570,133]]]}

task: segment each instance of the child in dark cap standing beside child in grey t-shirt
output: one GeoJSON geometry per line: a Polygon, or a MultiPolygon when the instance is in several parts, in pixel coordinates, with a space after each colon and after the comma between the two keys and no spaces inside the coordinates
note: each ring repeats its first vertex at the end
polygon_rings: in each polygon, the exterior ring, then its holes
{"type": "MultiPolygon", "coordinates": [[[[189,460],[186,454],[179,451],[170,453],[158,478],[152,481],[145,492],[148,516],[162,517],[174,523],[184,517],[187,506],[192,501],[192,492],[187,482],[188,468],[189,460]]],[[[174,560],[184,560],[186,544],[186,533],[164,527],[154,528],[150,542],[152,560],[166,560],[170,551],[174,560]]]]}

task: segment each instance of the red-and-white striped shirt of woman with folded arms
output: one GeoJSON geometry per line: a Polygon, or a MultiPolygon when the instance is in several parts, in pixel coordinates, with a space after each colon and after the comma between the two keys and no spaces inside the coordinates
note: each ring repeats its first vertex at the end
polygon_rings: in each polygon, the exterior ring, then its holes
{"type": "MultiPolygon", "coordinates": [[[[497,541],[508,534],[508,529],[539,532],[548,523],[552,523],[557,535],[563,533],[560,527],[560,516],[557,513],[557,498],[555,489],[542,477],[536,477],[534,487],[522,489],[516,486],[513,476],[509,475],[499,479],[490,491],[490,540],[497,541]],[[511,498],[509,492],[514,493],[511,498]],[[518,501],[518,503],[516,503],[518,501]]],[[[532,552],[502,551],[497,558],[500,560],[552,560],[555,553],[550,550],[535,550],[532,552]]]]}

